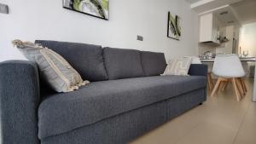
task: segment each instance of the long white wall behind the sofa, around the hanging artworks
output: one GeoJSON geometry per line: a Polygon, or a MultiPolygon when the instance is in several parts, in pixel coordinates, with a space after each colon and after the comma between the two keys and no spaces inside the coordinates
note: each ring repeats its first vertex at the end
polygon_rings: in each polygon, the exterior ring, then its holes
{"type": "Polygon", "coordinates": [[[10,14],[0,14],[0,61],[21,59],[10,44],[49,39],[123,49],[165,52],[166,58],[196,55],[198,18],[184,0],[110,0],[110,20],[62,8],[61,0],[0,0],[10,14]],[[182,18],[181,41],[166,37],[167,12],[182,18]],[[137,41],[142,35],[144,41],[137,41]]]}

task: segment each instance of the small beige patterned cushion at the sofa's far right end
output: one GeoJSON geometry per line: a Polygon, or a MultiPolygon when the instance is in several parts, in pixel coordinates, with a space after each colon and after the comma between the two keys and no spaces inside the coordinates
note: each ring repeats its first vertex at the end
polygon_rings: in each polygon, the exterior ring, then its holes
{"type": "Polygon", "coordinates": [[[183,59],[172,59],[168,61],[166,71],[162,75],[183,75],[188,76],[189,67],[192,59],[187,57],[183,59]]]}

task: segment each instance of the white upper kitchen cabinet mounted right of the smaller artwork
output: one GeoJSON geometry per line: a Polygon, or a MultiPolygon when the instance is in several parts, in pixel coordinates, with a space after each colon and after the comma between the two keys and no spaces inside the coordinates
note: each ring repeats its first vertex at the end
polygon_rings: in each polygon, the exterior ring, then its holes
{"type": "Polygon", "coordinates": [[[214,14],[204,14],[200,17],[200,43],[219,45],[219,21],[214,14]]]}

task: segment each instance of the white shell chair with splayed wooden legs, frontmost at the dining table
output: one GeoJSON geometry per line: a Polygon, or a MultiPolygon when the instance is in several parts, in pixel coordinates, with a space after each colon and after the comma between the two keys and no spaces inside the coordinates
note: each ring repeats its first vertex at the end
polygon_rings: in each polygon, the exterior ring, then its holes
{"type": "Polygon", "coordinates": [[[225,89],[229,81],[233,84],[237,101],[240,101],[241,97],[245,95],[244,83],[241,78],[245,77],[246,73],[241,66],[238,55],[217,55],[214,60],[212,73],[218,76],[218,81],[212,90],[211,96],[215,95],[221,84],[224,85],[223,89],[225,89]]]}

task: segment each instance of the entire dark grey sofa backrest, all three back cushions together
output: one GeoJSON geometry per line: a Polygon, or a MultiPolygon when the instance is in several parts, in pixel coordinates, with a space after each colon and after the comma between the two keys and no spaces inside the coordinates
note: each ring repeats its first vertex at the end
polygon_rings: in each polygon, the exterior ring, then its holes
{"type": "Polygon", "coordinates": [[[91,82],[121,78],[159,76],[166,69],[163,53],[136,49],[104,48],[86,43],[36,40],[63,56],[84,80],[91,82]]]}

